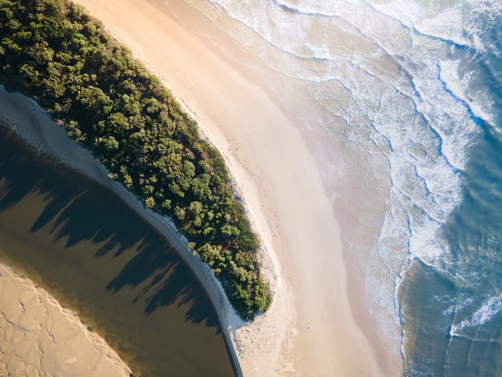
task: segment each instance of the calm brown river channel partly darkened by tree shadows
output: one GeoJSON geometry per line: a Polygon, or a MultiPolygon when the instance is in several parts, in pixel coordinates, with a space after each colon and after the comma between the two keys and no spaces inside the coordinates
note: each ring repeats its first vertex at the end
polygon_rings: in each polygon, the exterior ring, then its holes
{"type": "Polygon", "coordinates": [[[4,127],[0,262],[75,311],[136,376],[235,375],[214,306],[169,241],[4,127]]]}

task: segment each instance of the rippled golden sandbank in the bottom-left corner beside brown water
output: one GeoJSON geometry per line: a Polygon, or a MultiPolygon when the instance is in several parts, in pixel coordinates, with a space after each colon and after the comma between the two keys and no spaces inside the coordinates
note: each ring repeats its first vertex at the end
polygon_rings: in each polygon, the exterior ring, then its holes
{"type": "Polygon", "coordinates": [[[131,370],[47,292],[0,263],[0,375],[124,377],[131,370]]]}

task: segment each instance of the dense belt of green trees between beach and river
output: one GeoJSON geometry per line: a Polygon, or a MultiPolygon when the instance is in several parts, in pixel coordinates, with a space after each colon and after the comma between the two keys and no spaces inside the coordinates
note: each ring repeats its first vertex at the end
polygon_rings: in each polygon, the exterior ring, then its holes
{"type": "Polygon", "coordinates": [[[272,301],[219,152],[170,93],[67,0],[0,0],[0,82],[34,98],[149,208],[172,217],[244,318],[272,301]]]}

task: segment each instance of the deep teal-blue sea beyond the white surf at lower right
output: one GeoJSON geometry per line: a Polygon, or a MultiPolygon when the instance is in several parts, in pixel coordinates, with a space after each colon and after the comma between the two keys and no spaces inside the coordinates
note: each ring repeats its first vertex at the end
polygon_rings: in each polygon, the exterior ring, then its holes
{"type": "Polygon", "coordinates": [[[438,234],[443,253],[414,261],[399,289],[407,375],[502,373],[500,147],[484,130],[462,172],[463,201],[438,234]]]}

